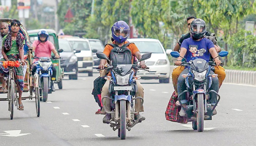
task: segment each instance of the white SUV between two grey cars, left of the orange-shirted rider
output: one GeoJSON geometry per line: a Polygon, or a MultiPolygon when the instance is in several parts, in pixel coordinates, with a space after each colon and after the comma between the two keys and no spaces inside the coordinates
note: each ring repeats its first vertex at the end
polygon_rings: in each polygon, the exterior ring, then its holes
{"type": "Polygon", "coordinates": [[[81,50],[76,53],[78,58],[78,71],[86,72],[89,76],[93,76],[93,53],[88,39],[82,38],[65,38],[67,39],[74,50],[81,50]]]}

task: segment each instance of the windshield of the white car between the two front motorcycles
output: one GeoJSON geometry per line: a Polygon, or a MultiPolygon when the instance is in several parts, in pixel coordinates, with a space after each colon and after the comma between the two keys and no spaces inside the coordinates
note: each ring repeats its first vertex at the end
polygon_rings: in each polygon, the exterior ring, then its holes
{"type": "Polygon", "coordinates": [[[162,47],[159,42],[140,41],[134,43],[140,50],[140,53],[163,53],[162,47]]]}

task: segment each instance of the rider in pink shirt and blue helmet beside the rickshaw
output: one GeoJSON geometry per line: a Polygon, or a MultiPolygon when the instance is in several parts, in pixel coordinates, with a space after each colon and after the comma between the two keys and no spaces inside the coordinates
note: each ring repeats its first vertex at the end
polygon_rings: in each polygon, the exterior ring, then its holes
{"type": "MultiPolygon", "coordinates": [[[[55,50],[55,47],[52,42],[48,41],[49,34],[47,30],[41,29],[37,33],[38,40],[34,41],[33,51],[35,52],[36,57],[51,57],[51,53],[56,56],[56,58],[60,58],[58,52],[55,50]]],[[[38,61],[38,59],[34,59],[33,62],[38,61]]],[[[32,68],[32,74],[34,75],[36,71],[36,67],[33,66],[32,68]]],[[[56,69],[52,67],[52,80],[56,80],[56,69]]]]}

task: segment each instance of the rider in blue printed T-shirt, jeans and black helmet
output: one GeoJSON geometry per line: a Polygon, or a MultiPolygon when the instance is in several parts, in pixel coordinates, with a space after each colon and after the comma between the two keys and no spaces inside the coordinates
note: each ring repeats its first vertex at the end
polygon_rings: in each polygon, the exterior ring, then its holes
{"type": "MultiPolygon", "coordinates": [[[[215,50],[214,44],[209,40],[204,38],[204,35],[206,33],[206,23],[202,19],[195,19],[191,23],[190,27],[191,31],[191,38],[185,39],[181,44],[180,49],[180,56],[177,58],[177,61],[175,62],[176,65],[181,65],[181,59],[182,57],[185,57],[187,59],[187,62],[196,59],[201,58],[209,62],[210,60],[210,54],[212,58],[215,58],[214,61],[217,66],[220,65],[221,61],[219,60],[218,53],[215,50]]],[[[188,74],[188,68],[185,68],[181,74],[188,74]]],[[[210,74],[214,74],[214,72],[211,70],[210,74]]],[[[181,92],[186,90],[186,84],[185,84],[185,78],[182,76],[178,77],[178,84],[177,84],[177,90],[178,95],[180,95],[181,92]]],[[[210,90],[214,90],[218,93],[219,91],[219,81],[218,78],[212,78],[212,85],[210,87],[210,90]]],[[[217,102],[217,95],[215,93],[210,93],[210,104],[213,106],[217,102]]],[[[186,106],[187,100],[185,97],[185,94],[181,96],[181,104],[183,107],[186,106]]],[[[217,114],[217,111],[214,110],[213,115],[217,114]]],[[[180,116],[185,116],[186,112],[181,108],[180,116]]]]}

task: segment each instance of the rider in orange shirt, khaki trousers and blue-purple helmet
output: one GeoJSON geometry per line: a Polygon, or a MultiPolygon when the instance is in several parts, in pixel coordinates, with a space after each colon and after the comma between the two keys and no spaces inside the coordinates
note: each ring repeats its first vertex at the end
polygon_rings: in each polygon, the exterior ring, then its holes
{"type": "MultiPolygon", "coordinates": [[[[116,44],[121,48],[124,44],[128,43],[128,41],[126,41],[126,40],[129,36],[130,28],[126,22],[120,20],[120,21],[114,23],[114,25],[111,28],[111,31],[112,31],[112,37],[114,39],[114,41],[112,42],[113,44],[116,44]]],[[[140,54],[138,47],[134,43],[131,43],[130,45],[128,45],[127,48],[131,50],[132,55],[135,55],[138,59],[141,59],[142,55],[140,54]]],[[[113,49],[112,46],[106,45],[103,53],[107,57],[109,57],[110,51],[112,49],[113,49]]],[[[106,64],[106,60],[101,59],[99,69],[103,69],[105,64],[106,64]]],[[[145,62],[141,61],[140,66],[143,69],[145,69],[146,68],[145,62]]],[[[110,93],[108,90],[109,82],[110,81],[106,81],[106,83],[104,84],[104,86],[102,88],[102,92],[101,92],[101,97],[104,97],[104,96],[110,97],[110,93]]],[[[136,92],[135,96],[144,98],[144,89],[143,89],[142,85],[140,84],[140,82],[138,80],[136,80],[136,84],[138,86],[138,92],[136,92]]],[[[103,109],[105,109],[106,111],[111,111],[110,99],[105,98],[105,101],[102,101],[102,103],[103,103],[103,107],[104,107],[103,109]]],[[[144,111],[144,109],[143,109],[141,100],[136,99],[135,100],[135,112],[142,112],[142,111],[144,111]]],[[[145,118],[140,114],[137,114],[135,118],[139,119],[139,120],[145,120],[145,118]]],[[[106,114],[106,116],[103,118],[103,123],[108,123],[110,119],[111,119],[111,115],[106,114]]]]}

